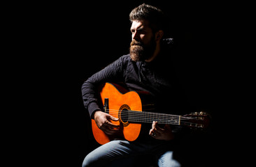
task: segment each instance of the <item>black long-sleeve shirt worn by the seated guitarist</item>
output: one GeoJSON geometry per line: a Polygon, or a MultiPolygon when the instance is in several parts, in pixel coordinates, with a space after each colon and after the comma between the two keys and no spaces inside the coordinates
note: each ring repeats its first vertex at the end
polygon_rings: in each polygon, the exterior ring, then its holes
{"type": "Polygon", "coordinates": [[[159,113],[183,115],[191,112],[186,95],[180,85],[173,65],[173,40],[162,40],[159,55],[150,63],[131,61],[130,55],[118,58],[83,83],[82,95],[85,109],[93,118],[94,111],[102,110],[97,96],[98,86],[105,82],[125,84],[128,90],[147,91],[159,113]]]}

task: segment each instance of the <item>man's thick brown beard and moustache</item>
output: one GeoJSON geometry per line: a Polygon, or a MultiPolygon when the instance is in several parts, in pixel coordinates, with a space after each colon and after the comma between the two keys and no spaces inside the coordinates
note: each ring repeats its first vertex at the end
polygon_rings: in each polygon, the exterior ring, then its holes
{"type": "Polygon", "coordinates": [[[148,45],[132,40],[130,44],[130,56],[132,61],[145,61],[151,58],[156,47],[155,39],[152,38],[148,45]]]}

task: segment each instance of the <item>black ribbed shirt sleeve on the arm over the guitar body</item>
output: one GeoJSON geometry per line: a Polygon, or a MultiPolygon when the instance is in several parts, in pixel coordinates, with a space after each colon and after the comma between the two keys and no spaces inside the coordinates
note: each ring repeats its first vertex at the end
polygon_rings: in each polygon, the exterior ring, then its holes
{"type": "Polygon", "coordinates": [[[101,110],[99,105],[99,86],[105,82],[122,81],[122,68],[124,56],[118,58],[103,70],[95,73],[87,79],[81,88],[83,104],[93,119],[94,111],[101,110]]]}

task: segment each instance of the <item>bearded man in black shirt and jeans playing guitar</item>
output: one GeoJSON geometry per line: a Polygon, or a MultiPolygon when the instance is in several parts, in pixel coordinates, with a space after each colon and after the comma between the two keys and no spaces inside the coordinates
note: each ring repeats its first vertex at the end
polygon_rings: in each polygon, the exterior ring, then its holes
{"type": "MultiPolygon", "coordinates": [[[[182,115],[190,107],[173,68],[173,39],[163,39],[164,18],[162,10],[155,6],[143,3],[134,8],[129,14],[129,54],[93,74],[82,86],[85,109],[106,135],[122,130],[120,125],[113,123],[120,118],[104,112],[101,107],[97,90],[106,82],[122,83],[129,91],[147,92],[160,113],[182,115]]],[[[173,157],[173,145],[180,132],[183,132],[181,127],[161,126],[157,121],[152,121],[149,126],[145,125],[136,141],[115,138],[99,146],[87,154],[83,167],[136,166],[133,163],[143,155],[153,157],[147,160],[154,160],[158,166],[180,166],[180,162],[173,157]]]]}

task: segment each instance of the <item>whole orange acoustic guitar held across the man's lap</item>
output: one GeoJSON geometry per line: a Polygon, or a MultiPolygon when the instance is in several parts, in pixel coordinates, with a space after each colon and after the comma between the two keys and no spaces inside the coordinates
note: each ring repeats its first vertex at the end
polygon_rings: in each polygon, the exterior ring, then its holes
{"type": "MultiPolygon", "coordinates": [[[[127,141],[135,141],[141,132],[141,123],[152,123],[157,121],[159,124],[180,125],[192,128],[206,129],[209,124],[208,114],[204,112],[190,113],[185,116],[178,116],[166,113],[155,113],[148,111],[151,104],[143,104],[141,93],[127,91],[125,88],[111,83],[106,83],[100,90],[104,111],[119,121],[111,121],[115,125],[120,125],[121,134],[127,141]],[[143,110],[146,109],[146,110],[143,110]]],[[[92,119],[92,132],[96,141],[103,145],[112,141],[116,136],[106,135],[96,122],[92,119]]]]}

